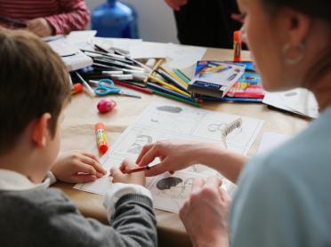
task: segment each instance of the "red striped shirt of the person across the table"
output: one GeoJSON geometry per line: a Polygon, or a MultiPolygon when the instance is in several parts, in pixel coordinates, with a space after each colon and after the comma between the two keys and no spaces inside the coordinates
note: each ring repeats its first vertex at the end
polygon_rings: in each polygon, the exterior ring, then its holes
{"type": "Polygon", "coordinates": [[[54,35],[85,29],[90,20],[85,0],[0,0],[0,16],[16,20],[43,17],[54,35]]]}

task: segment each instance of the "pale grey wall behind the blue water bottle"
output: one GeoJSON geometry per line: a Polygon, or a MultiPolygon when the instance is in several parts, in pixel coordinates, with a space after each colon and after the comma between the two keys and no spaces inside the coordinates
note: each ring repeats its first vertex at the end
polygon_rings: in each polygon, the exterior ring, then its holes
{"type": "MultiPolygon", "coordinates": [[[[86,0],[91,11],[106,0],[86,0]]],[[[164,0],[125,0],[138,12],[140,37],[146,41],[178,43],[174,13],[164,0]]]]}

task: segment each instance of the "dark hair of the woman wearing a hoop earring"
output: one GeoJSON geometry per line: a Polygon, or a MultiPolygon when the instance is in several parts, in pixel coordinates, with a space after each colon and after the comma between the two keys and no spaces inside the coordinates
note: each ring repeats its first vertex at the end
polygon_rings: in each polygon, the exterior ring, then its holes
{"type": "Polygon", "coordinates": [[[277,13],[282,8],[289,8],[326,23],[329,30],[320,38],[328,40],[327,47],[319,55],[319,60],[312,64],[313,71],[312,73],[310,71],[307,77],[318,79],[325,76],[331,68],[331,0],[262,0],[262,4],[271,14],[277,13]]]}

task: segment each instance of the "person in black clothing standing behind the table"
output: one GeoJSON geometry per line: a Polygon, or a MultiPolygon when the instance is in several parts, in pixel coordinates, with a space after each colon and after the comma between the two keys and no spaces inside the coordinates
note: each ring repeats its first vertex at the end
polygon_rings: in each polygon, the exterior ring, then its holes
{"type": "Polygon", "coordinates": [[[232,48],[233,31],[241,28],[234,0],[165,0],[174,10],[181,44],[232,48]],[[238,18],[237,18],[238,19],[238,18]]]}

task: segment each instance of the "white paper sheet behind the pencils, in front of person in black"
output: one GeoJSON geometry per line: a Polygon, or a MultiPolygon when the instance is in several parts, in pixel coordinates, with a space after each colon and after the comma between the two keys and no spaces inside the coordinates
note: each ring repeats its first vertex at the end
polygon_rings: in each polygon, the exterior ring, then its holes
{"type": "Polygon", "coordinates": [[[189,68],[195,65],[198,60],[202,60],[205,53],[205,47],[167,44],[166,57],[171,61],[166,63],[166,65],[170,68],[189,68]]]}

